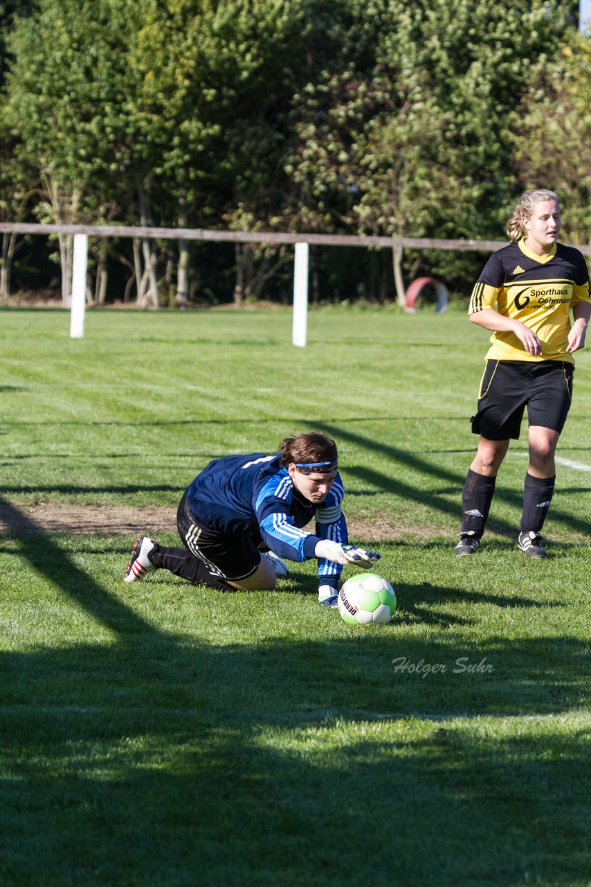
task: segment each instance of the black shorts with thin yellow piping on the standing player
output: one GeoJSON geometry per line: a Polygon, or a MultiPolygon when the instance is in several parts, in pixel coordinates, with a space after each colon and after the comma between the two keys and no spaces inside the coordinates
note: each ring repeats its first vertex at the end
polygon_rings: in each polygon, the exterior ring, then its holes
{"type": "Polygon", "coordinates": [[[560,433],[571,408],[573,371],[562,360],[487,360],[472,431],[490,441],[518,440],[527,406],[529,425],[560,433]]]}

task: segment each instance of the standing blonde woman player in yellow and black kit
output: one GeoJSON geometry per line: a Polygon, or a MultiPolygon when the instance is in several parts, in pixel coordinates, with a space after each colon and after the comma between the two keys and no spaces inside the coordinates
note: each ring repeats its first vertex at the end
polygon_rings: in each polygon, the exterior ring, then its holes
{"type": "Polygon", "coordinates": [[[526,405],[529,466],[517,544],[530,557],[546,556],[540,530],[554,491],[556,443],[571,406],[572,353],[584,347],[591,315],[587,264],[578,249],[556,242],[560,227],[556,194],[525,192],[507,223],[509,246],[491,256],[470,297],[470,320],[493,335],[471,419],[478,451],[463,488],[456,554],[478,551],[496,475],[510,438],[519,437],[526,405]]]}

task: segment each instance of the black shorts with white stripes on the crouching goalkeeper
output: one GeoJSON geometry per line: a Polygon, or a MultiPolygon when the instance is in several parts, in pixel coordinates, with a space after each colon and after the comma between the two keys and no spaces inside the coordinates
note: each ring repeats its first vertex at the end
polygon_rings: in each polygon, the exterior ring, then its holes
{"type": "Polygon", "coordinates": [[[259,533],[233,536],[204,527],[192,513],[186,491],[176,512],[176,526],[185,548],[218,579],[229,582],[245,579],[252,576],[261,563],[259,533]]]}

